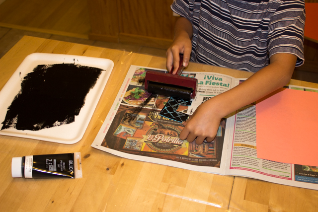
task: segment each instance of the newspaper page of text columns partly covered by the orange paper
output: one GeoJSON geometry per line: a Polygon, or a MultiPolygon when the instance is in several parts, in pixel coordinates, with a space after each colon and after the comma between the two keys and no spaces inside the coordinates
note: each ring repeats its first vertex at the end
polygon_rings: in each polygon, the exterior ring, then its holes
{"type": "MultiPolygon", "coordinates": [[[[290,88],[296,89],[295,87],[290,88]]],[[[228,122],[234,124],[232,125],[233,137],[230,140],[229,151],[231,152],[228,154],[229,164],[226,174],[247,176],[284,185],[318,189],[317,185],[313,185],[318,184],[318,167],[257,158],[256,106],[254,103],[241,108],[230,119],[232,120],[228,119],[228,122]],[[312,185],[299,182],[308,182],[312,183],[312,185]]]]}

